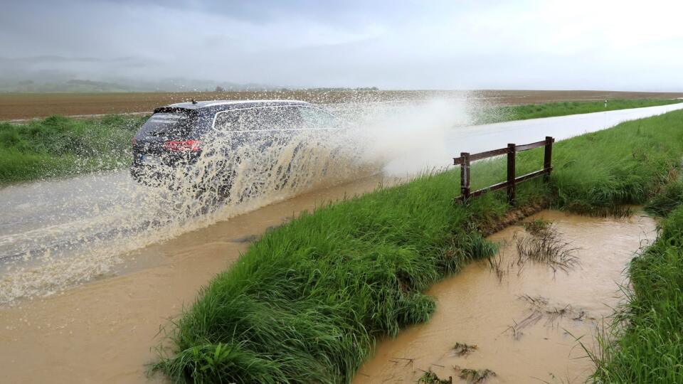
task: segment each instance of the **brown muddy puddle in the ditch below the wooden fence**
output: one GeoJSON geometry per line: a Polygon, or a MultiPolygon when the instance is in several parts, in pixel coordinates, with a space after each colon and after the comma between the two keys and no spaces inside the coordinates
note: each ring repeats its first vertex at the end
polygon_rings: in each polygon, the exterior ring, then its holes
{"type": "Polygon", "coordinates": [[[520,270],[517,239],[524,238],[524,228],[513,225],[490,236],[502,244],[502,277],[488,262],[476,262],[433,286],[427,293],[438,304],[430,321],[378,342],[354,383],[415,383],[428,370],[464,383],[464,368],[496,373],[487,383],[583,382],[593,366],[576,340],[594,347],[596,329],[623,301],[625,267],[655,238],[655,222],[551,210],[527,221],[536,218],[554,223],[566,249],[576,248],[578,265],[565,273],[526,262],[520,270]],[[477,348],[462,353],[456,343],[477,348]]]}

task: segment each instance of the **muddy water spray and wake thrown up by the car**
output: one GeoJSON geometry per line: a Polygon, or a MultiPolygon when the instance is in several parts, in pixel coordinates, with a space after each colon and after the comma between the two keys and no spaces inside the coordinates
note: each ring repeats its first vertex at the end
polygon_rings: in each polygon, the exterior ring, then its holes
{"type": "Polygon", "coordinates": [[[440,138],[468,123],[466,107],[465,100],[333,105],[349,127],[218,137],[191,166],[146,170],[143,178],[157,180],[150,186],[119,172],[6,188],[9,205],[26,206],[0,235],[0,304],[111,274],[127,252],[306,191],[446,166],[440,138]],[[157,179],[159,171],[169,177],[157,179]]]}

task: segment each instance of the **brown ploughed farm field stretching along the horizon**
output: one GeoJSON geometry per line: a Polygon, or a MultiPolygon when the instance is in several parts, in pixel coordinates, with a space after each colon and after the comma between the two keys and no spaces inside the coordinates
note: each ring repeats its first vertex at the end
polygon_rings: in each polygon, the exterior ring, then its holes
{"type": "Polygon", "coordinates": [[[683,92],[613,92],[586,90],[475,90],[475,91],[269,91],[269,92],[134,92],[134,93],[0,93],[0,120],[151,112],[154,107],[194,100],[294,99],[319,104],[415,100],[456,97],[491,105],[605,99],[674,99],[683,92]]]}

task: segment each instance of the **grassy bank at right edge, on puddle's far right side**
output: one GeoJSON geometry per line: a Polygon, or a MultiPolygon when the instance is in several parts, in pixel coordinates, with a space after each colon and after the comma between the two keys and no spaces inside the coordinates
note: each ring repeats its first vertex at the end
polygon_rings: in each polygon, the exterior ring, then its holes
{"type": "Polygon", "coordinates": [[[683,183],[647,206],[666,215],[659,237],[632,260],[628,304],[599,339],[598,383],[683,383],[683,183]],[[669,213],[669,211],[671,211],[669,213]]]}

